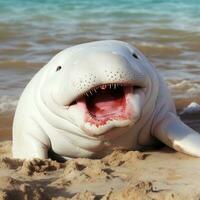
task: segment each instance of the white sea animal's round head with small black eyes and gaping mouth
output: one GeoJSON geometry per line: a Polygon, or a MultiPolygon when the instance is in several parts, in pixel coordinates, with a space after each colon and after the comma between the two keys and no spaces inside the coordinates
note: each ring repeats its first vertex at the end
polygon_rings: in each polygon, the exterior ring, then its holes
{"type": "Polygon", "coordinates": [[[57,127],[100,143],[133,128],[152,93],[148,60],[121,41],[68,48],[45,68],[42,98],[62,120],[57,127]]]}

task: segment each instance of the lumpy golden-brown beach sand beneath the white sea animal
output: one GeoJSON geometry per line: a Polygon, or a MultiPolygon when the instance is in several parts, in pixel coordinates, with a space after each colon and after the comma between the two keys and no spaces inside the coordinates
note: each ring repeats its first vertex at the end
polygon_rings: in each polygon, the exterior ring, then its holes
{"type": "MultiPolygon", "coordinates": [[[[182,116],[199,130],[200,115],[182,116]]],[[[0,200],[200,199],[200,158],[168,147],[102,159],[19,160],[0,142],[0,200]]]]}

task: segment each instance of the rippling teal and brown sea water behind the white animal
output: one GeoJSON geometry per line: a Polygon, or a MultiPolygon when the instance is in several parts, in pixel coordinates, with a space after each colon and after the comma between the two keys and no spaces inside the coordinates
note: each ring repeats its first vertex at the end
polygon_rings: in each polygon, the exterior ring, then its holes
{"type": "Polygon", "coordinates": [[[0,131],[10,130],[25,85],[53,55],[93,40],[135,45],[177,107],[200,102],[199,25],[199,0],[0,0],[0,131]]]}

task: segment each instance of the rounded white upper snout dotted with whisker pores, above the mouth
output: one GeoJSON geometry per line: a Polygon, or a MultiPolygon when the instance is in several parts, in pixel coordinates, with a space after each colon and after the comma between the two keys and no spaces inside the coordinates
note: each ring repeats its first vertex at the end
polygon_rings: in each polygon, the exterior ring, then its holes
{"type": "Polygon", "coordinates": [[[131,58],[124,57],[112,52],[94,52],[77,56],[70,70],[69,82],[72,85],[68,91],[71,95],[66,104],[71,104],[78,97],[100,85],[123,84],[145,87],[145,74],[138,70],[137,63],[132,61],[131,54],[130,56],[131,58]]]}

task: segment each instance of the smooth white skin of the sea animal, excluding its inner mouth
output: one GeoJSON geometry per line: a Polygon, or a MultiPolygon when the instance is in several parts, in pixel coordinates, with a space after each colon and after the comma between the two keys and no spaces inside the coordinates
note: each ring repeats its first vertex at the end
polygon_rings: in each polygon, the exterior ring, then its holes
{"type": "Polygon", "coordinates": [[[166,84],[144,55],[124,42],[99,41],[63,50],[27,85],[14,118],[13,157],[47,158],[49,150],[64,159],[102,157],[158,140],[200,156],[199,134],[177,117],[166,84]],[[91,116],[87,95],[119,85],[124,110],[120,105],[107,117],[100,108],[103,116],[91,116]]]}

